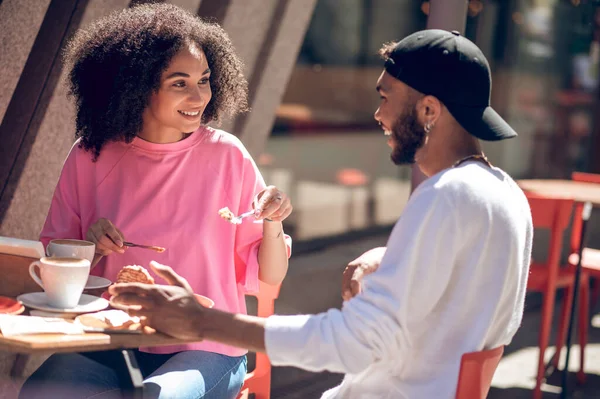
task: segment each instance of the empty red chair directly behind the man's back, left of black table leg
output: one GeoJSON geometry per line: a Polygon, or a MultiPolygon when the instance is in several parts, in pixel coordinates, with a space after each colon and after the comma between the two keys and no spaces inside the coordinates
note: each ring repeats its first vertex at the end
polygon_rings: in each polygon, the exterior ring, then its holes
{"type": "Polygon", "coordinates": [[[544,354],[550,339],[556,290],[569,288],[574,284],[572,271],[560,267],[563,235],[569,225],[574,202],[571,199],[545,198],[531,193],[526,193],[526,195],[531,207],[533,226],[550,231],[547,260],[545,263],[532,260],[527,281],[528,291],[540,292],[543,295],[542,320],[538,339],[540,354],[533,393],[534,399],[539,399],[542,395],[541,385],[545,372],[544,354]]]}

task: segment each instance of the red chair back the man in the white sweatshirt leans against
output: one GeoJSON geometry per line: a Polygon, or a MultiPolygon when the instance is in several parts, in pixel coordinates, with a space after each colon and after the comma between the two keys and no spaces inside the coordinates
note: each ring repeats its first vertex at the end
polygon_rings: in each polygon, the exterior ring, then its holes
{"type": "Polygon", "coordinates": [[[503,353],[504,346],[465,353],[460,359],[456,399],[485,399],[503,353]]]}

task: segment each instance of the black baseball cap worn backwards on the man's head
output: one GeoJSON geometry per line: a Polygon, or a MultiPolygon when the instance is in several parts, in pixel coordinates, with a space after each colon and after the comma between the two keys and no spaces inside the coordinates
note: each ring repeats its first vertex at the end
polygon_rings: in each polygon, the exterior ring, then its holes
{"type": "Polygon", "coordinates": [[[428,29],[398,42],[385,70],[413,89],[438,98],[473,136],[487,141],[517,133],[492,107],[492,77],[487,59],[457,31],[428,29]]]}

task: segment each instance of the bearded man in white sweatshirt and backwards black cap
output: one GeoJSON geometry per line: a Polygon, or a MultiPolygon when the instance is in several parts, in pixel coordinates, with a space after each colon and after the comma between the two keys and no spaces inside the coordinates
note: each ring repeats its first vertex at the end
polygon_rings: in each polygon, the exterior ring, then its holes
{"type": "Polygon", "coordinates": [[[323,398],[453,398],[461,356],[508,344],[523,316],[531,213],[478,142],[516,133],[489,106],[485,57],[458,33],[417,32],[382,55],[375,118],[392,161],[416,162],[428,179],[387,249],[349,267],[356,273],[341,310],[261,319],[204,309],[185,280],[154,263],[173,286],[113,286],[114,301],[141,306],[132,312],[173,336],[266,351],[274,365],[345,373],[323,398]]]}

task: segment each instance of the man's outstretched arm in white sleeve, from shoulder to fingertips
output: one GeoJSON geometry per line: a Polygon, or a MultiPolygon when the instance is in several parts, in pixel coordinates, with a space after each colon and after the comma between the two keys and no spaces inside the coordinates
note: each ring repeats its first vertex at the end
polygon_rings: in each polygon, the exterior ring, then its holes
{"type": "Polygon", "coordinates": [[[181,282],[166,288],[116,285],[110,291],[117,303],[141,306],[131,313],[148,317],[150,326],[166,334],[266,351],[274,365],[358,373],[377,361],[403,358],[411,326],[431,315],[452,273],[459,226],[452,206],[432,195],[412,204],[394,228],[381,266],[365,278],[364,292],[342,310],[261,319],[205,309],[181,282]]]}

